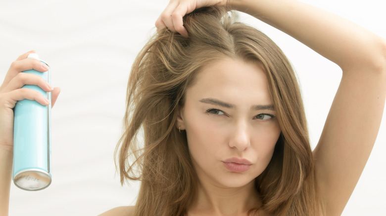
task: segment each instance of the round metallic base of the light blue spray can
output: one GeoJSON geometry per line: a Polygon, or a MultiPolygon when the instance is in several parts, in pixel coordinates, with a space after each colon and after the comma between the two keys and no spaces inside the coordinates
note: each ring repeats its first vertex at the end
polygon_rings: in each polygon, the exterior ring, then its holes
{"type": "Polygon", "coordinates": [[[44,170],[27,169],[16,173],[13,182],[23,190],[42,190],[51,184],[51,176],[44,170]]]}

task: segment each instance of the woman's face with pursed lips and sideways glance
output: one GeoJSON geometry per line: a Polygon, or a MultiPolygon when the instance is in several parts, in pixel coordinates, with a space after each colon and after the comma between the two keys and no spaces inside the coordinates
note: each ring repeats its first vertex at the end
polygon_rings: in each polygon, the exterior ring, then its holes
{"type": "Polygon", "coordinates": [[[201,182],[240,187],[254,180],[281,132],[261,65],[226,58],[203,68],[186,92],[177,127],[186,130],[201,182]]]}

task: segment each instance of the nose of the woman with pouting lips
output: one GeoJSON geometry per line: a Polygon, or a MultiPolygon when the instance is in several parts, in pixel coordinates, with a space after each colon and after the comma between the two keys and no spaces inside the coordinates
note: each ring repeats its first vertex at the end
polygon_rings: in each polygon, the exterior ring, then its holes
{"type": "Polygon", "coordinates": [[[250,135],[246,123],[239,122],[232,128],[232,132],[230,132],[229,146],[237,148],[240,151],[245,150],[250,146],[250,135]]]}

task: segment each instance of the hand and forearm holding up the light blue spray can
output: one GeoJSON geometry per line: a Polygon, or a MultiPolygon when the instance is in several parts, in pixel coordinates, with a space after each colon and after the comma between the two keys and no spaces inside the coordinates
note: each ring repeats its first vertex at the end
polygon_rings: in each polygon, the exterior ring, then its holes
{"type": "Polygon", "coordinates": [[[48,71],[46,64],[37,59],[27,59],[27,52],[11,64],[4,81],[0,86],[0,215],[8,215],[9,191],[12,176],[13,159],[13,109],[17,101],[24,99],[37,101],[43,106],[49,101],[37,91],[21,88],[24,85],[37,85],[46,92],[51,92],[52,106],[55,103],[60,89],[52,86],[42,77],[22,73],[34,69],[39,72],[48,71]]]}

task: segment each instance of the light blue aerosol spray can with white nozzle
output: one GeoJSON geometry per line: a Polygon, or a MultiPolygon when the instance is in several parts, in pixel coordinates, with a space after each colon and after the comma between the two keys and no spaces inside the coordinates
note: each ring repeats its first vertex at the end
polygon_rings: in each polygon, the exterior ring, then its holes
{"type": "MultiPolygon", "coordinates": [[[[28,58],[39,59],[32,53],[28,58]]],[[[44,64],[44,61],[40,60],[44,64]]],[[[47,65],[47,64],[46,64],[47,65]]],[[[50,83],[50,71],[24,71],[37,74],[50,83]]],[[[51,93],[36,85],[25,85],[51,101],[51,93]]],[[[14,108],[13,182],[24,190],[41,190],[51,183],[51,104],[22,100],[14,108]]]]}

